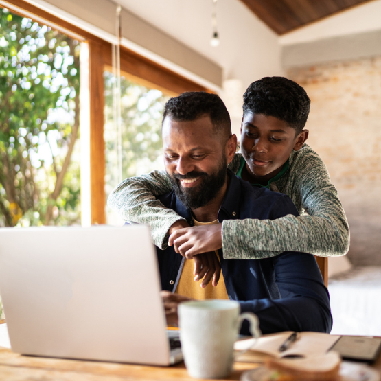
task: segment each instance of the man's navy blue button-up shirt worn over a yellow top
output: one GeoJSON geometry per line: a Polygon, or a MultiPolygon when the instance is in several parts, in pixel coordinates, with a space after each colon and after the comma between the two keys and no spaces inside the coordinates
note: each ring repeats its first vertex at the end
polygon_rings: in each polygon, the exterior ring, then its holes
{"type": "MultiPolygon", "coordinates": [[[[229,170],[230,183],[218,222],[245,218],[275,220],[297,209],[285,194],[253,187],[229,170]]],[[[192,214],[174,191],[159,198],[193,224],[192,214]]],[[[330,297],[313,255],[286,251],[264,259],[224,259],[218,251],[229,299],[240,302],[242,312],[257,314],[262,333],[281,331],[330,332],[330,297]]],[[[181,276],[183,260],[173,246],[157,248],[161,286],[174,291],[181,276]]],[[[248,325],[242,334],[249,334],[248,325]]]]}

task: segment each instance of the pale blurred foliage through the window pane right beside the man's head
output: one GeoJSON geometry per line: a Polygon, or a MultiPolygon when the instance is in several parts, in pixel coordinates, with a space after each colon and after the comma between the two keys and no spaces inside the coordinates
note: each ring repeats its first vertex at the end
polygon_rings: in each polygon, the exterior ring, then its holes
{"type": "MultiPolygon", "coordinates": [[[[105,80],[106,183],[108,192],[117,185],[116,130],[113,123],[113,80],[105,80]]],[[[163,169],[161,117],[169,99],[161,91],[148,89],[127,78],[121,78],[122,98],[122,177],[137,176],[154,169],[163,169]]]]}

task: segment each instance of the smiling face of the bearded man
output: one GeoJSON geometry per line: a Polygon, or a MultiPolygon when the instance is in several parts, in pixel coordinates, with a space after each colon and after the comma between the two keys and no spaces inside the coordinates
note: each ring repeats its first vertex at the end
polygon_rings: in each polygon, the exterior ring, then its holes
{"type": "Polygon", "coordinates": [[[222,137],[213,130],[209,116],[163,122],[165,170],[176,196],[190,209],[211,201],[227,178],[227,156],[222,137]]]}

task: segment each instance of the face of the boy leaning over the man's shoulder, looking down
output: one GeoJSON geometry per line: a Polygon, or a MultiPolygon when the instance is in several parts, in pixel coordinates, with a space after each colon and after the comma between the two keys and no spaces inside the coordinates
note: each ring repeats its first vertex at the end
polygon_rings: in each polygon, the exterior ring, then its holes
{"type": "Polygon", "coordinates": [[[246,161],[245,180],[268,181],[276,176],[292,150],[299,150],[308,130],[295,136],[295,129],[283,120],[246,113],[241,124],[241,151],[246,161]]]}

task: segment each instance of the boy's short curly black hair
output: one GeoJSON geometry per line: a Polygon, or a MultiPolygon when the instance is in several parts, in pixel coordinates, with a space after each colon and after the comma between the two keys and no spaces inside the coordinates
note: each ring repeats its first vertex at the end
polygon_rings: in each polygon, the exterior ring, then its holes
{"type": "Polygon", "coordinates": [[[299,134],[310,113],[310,98],[296,82],[284,77],[264,77],[244,93],[244,115],[264,114],[287,122],[299,134]]]}

